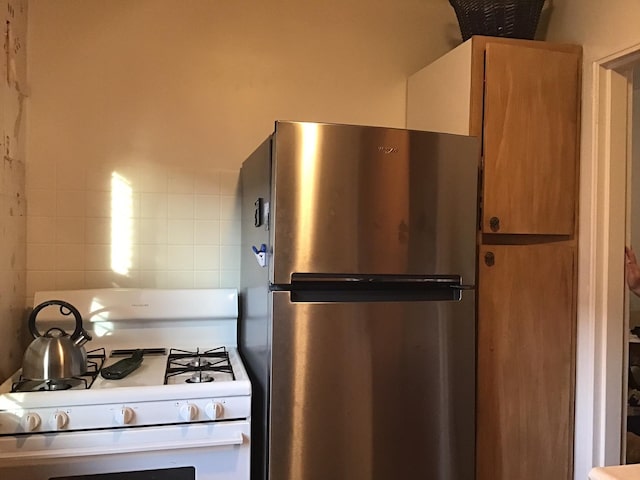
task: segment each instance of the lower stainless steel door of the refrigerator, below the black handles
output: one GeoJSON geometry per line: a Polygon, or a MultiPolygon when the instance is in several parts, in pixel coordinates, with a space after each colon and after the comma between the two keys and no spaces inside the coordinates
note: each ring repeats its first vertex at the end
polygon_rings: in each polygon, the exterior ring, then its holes
{"type": "Polygon", "coordinates": [[[273,305],[270,480],[473,480],[473,291],[273,305]]]}

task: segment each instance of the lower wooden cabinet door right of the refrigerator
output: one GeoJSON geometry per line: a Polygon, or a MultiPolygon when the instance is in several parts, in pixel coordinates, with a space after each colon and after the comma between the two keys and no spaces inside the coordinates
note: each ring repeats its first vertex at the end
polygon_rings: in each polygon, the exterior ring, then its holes
{"type": "Polygon", "coordinates": [[[479,263],[476,478],[569,480],[574,250],[485,245],[479,263]]]}

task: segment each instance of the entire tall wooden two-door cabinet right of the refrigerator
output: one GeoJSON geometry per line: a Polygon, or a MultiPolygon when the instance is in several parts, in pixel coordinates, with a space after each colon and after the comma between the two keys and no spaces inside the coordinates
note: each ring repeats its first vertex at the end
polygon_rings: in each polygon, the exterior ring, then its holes
{"type": "Polygon", "coordinates": [[[482,138],[478,480],[573,474],[581,61],[473,37],[408,81],[408,128],[482,138]]]}

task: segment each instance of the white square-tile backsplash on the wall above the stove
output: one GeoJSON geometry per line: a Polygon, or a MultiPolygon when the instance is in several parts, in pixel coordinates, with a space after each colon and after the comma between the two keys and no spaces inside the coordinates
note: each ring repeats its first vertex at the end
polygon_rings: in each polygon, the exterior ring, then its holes
{"type": "Polygon", "coordinates": [[[47,175],[27,178],[27,303],[42,289],[239,286],[239,172],[105,162],[74,173],[76,167],[47,164],[47,175]],[[115,220],[114,172],[118,188],[130,188],[129,206],[115,220]],[[51,188],[58,175],[65,180],[51,188]],[[114,241],[124,249],[116,252],[128,267],[122,274],[112,270],[114,241]]]}

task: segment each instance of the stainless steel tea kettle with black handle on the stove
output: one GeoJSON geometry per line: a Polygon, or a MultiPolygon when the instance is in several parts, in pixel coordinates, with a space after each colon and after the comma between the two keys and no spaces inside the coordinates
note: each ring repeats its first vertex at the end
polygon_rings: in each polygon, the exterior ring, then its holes
{"type": "Polygon", "coordinates": [[[22,362],[22,376],[28,379],[57,380],[84,375],[87,371],[87,352],[83,345],[91,336],[82,327],[80,312],[62,300],[49,300],[33,309],[29,316],[29,330],[34,340],[27,347],[22,362]],[[41,335],[36,317],[45,307],[59,305],[62,315],[75,317],[76,327],[71,335],[62,328],[52,327],[41,335]]]}

